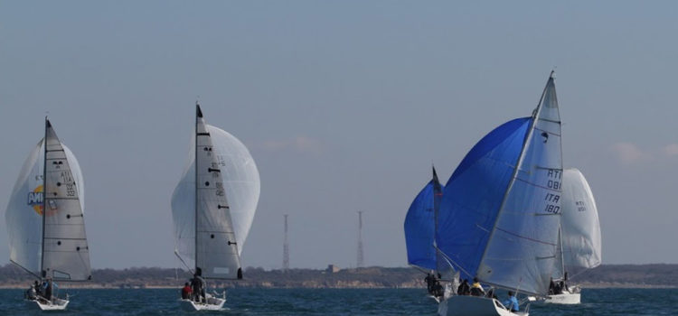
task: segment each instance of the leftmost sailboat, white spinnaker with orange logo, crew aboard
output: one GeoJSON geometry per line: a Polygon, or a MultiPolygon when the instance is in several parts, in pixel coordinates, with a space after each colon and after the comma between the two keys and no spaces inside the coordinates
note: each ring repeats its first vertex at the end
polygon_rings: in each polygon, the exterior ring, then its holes
{"type": "Polygon", "coordinates": [[[26,297],[31,307],[65,310],[68,294],[58,297],[53,284],[91,280],[84,196],[80,164],[45,118],[44,138],[26,158],[5,211],[10,261],[52,283],[52,293],[26,297]]]}

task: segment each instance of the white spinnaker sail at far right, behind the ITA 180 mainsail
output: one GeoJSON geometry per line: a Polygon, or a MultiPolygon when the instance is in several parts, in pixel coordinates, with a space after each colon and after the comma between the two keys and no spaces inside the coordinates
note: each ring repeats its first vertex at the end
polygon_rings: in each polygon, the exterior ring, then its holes
{"type": "Polygon", "coordinates": [[[562,229],[566,271],[579,274],[601,263],[598,209],[584,175],[569,168],[563,173],[562,229]]]}

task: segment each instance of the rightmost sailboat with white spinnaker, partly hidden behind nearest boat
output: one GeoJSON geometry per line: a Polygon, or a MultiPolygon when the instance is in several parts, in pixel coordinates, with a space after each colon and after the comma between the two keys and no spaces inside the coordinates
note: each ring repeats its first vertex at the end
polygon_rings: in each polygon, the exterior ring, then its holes
{"type": "Polygon", "coordinates": [[[560,218],[560,256],[553,271],[554,289],[544,302],[579,304],[579,286],[567,285],[574,276],[601,263],[600,222],[596,200],[589,182],[578,169],[568,168],[562,179],[562,215],[560,218]]]}

